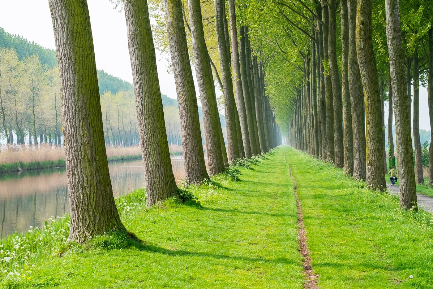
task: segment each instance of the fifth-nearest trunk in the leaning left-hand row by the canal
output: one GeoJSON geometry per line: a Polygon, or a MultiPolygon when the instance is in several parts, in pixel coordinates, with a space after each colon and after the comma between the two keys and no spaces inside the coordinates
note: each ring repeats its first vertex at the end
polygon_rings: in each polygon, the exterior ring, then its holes
{"type": "MultiPolygon", "coordinates": [[[[215,26],[220,56],[221,74],[223,77],[224,108],[226,113],[227,142],[229,145],[228,160],[239,158],[238,137],[236,132],[236,104],[233,94],[232,76],[230,73],[230,58],[224,35],[224,2],[215,0],[215,26]]],[[[239,140],[240,141],[240,140],[239,140]]]]}

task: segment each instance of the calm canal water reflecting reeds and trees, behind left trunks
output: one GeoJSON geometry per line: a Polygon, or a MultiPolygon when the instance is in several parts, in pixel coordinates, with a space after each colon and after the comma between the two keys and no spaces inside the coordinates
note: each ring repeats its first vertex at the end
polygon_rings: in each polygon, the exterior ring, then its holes
{"type": "MultiPolygon", "coordinates": [[[[184,179],[183,158],[172,158],[174,177],[184,179]]],[[[142,160],[110,161],[113,194],[145,187],[142,160]]],[[[65,167],[0,174],[0,238],[43,227],[51,216],[69,213],[65,167]]]]}

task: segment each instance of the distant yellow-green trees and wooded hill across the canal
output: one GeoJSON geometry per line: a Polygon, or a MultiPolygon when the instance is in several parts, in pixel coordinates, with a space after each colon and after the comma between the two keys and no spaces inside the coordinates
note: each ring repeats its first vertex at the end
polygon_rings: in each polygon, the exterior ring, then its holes
{"type": "MultiPolygon", "coordinates": [[[[139,143],[132,84],[97,71],[107,145],[139,143]]],[[[169,144],[182,145],[178,102],[162,96],[169,144]]],[[[201,135],[203,113],[199,107],[201,135]]],[[[222,119],[223,126],[225,126],[222,119]]],[[[55,51],[0,28],[0,138],[7,144],[61,146],[62,117],[55,51]],[[41,57],[42,56],[42,57],[41,57]]],[[[202,137],[202,144],[205,143],[202,137]]]]}

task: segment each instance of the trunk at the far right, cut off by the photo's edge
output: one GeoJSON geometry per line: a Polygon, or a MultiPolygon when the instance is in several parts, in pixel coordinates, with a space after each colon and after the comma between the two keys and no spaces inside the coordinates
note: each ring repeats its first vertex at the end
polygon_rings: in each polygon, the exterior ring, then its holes
{"type": "Polygon", "coordinates": [[[430,148],[429,148],[429,186],[433,187],[433,28],[429,30],[429,69],[428,69],[428,99],[430,118],[430,148]]]}

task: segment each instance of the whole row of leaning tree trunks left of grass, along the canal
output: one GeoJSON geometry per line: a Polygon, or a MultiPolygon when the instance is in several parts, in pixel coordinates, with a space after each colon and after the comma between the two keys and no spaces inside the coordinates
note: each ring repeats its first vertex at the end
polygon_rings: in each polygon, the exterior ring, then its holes
{"type": "MultiPolygon", "coordinates": [[[[55,32],[64,117],[65,159],[71,205],[69,238],[83,242],[97,234],[126,229],[114,203],[108,171],[87,3],[82,0],[49,0],[49,5],[55,32]]],[[[179,189],[174,180],[168,151],[147,1],[124,0],[123,5],[149,207],[179,194],[179,189]]],[[[233,2],[230,5],[233,8],[233,2]]],[[[228,154],[226,153],[216,105],[211,60],[204,39],[200,1],[189,0],[188,6],[194,63],[203,105],[209,173],[201,143],[182,3],[181,0],[165,0],[168,40],[181,119],[186,182],[199,183],[208,179],[209,175],[223,172],[226,165],[236,158],[251,157],[281,144],[281,136],[265,97],[263,63],[252,55],[246,27],[239,30],[242,35],[242,40],[239,41],[242,45],[242,62],[239,58],[239,49],[236,49],[239,43],[234,40],[237,33],[236,20],[230,21],[232,64],[236,67],[232,76],[224,1],[216,0],[215,23],[228,137],[228,154]]],[[[230,13],[234,18],[234,9],[230,13]]]]}

